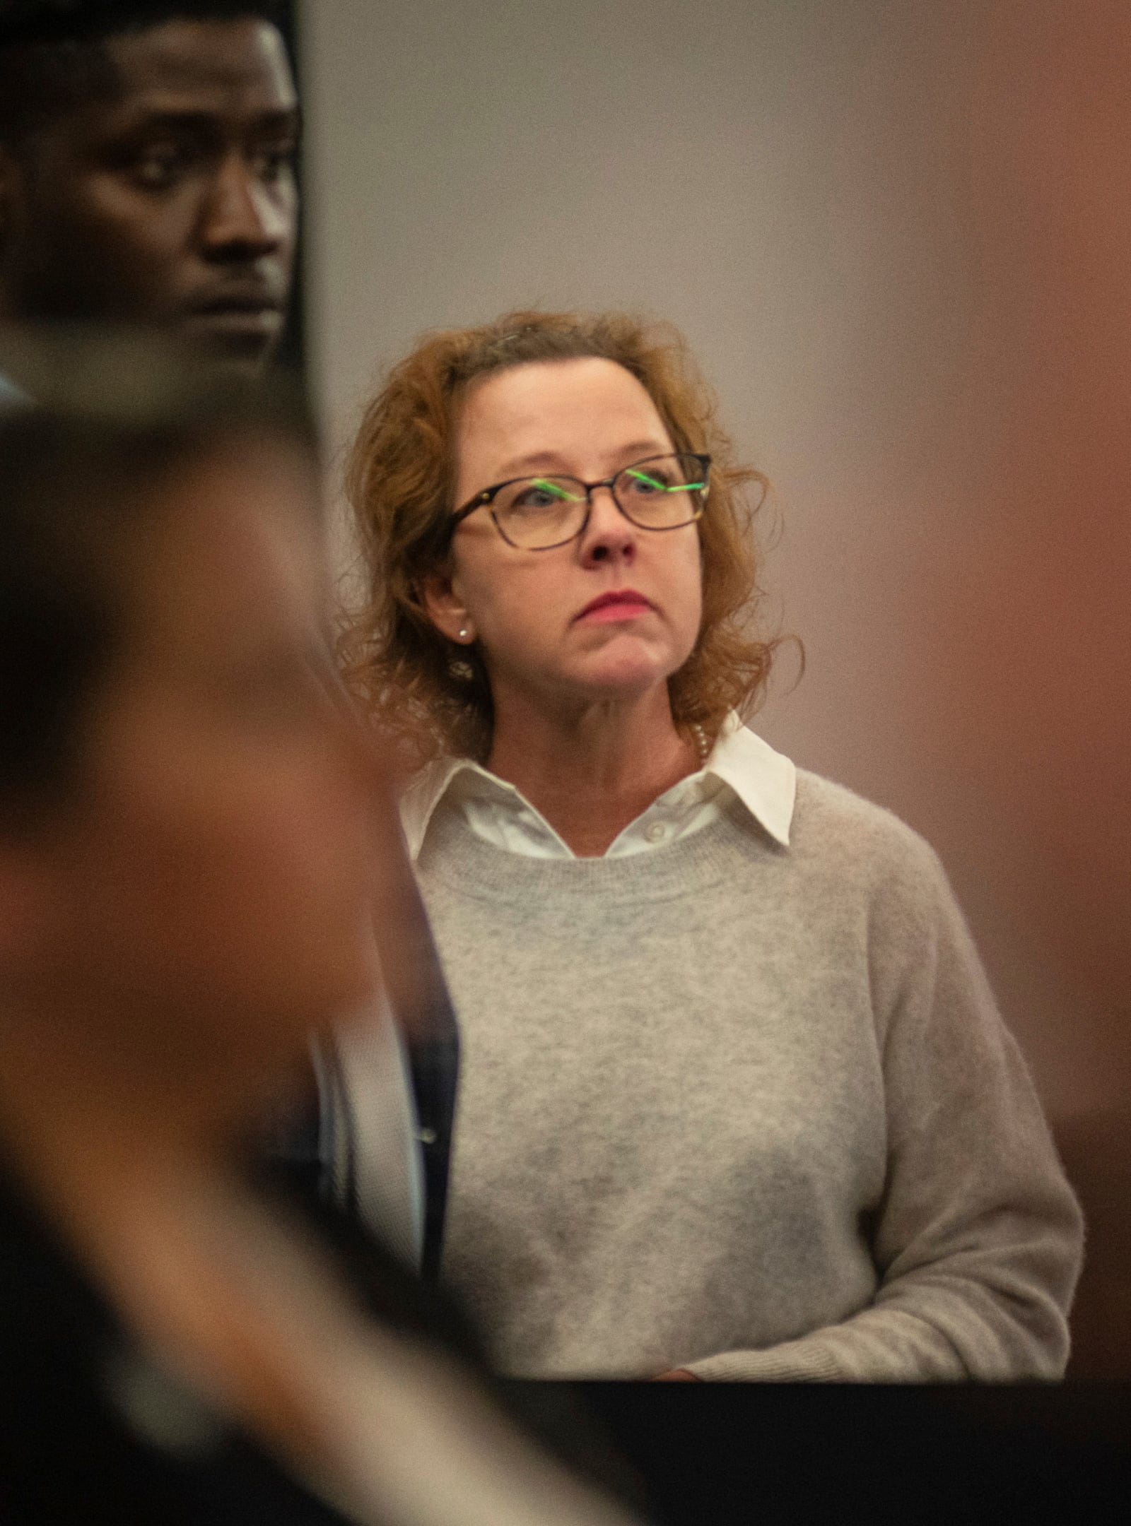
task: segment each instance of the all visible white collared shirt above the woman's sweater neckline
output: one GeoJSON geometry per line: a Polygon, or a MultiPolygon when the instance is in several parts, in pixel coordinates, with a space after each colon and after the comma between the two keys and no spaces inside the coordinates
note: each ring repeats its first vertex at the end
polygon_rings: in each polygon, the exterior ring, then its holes
{"type": "MultiPolygon", "coordinates": [[[[723,722],[698,774],[681,778],[614,839],[606,858],[627,858],[667,847],[708,827],[731,800],[781,847],[789,847],[797,769],[768,742],[748,731],[734,711],[723,722]]],[[[415,859],[437,812],[461,812],[478,838],[524,858],[574,858],[546,818],[513,784],[470,758],[437,758],[409,783],[401,824],[415,859]]]]}

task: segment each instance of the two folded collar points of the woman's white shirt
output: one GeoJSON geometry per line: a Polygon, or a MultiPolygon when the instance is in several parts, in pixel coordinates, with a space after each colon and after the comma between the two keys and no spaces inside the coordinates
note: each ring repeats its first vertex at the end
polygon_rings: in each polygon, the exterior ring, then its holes
{"type": "MultiPolygon", "coordinates": [[[[797,798],[797,769],[791,758],[775,752],[768,742],[743,726],[734,711],[723,720],[702,772],[728,784],[771,838],[783,848],[789,847],[789,827],[797,798]]],[[[498,778],[472,758],[435,758],[414,774],[400,801],[401,826],[414,861],[424,845],[424,833],[437,806],[456,780],[459,780],[459,787],[472,789],[476,794],[495,795],[514,806],[528,806],[525,797],[513,784],[498,778]]],[[[530,809],[533,810],[533,807],[530,809]]],[[[553,832],[551,827],[548,830],[553,832]]]]}

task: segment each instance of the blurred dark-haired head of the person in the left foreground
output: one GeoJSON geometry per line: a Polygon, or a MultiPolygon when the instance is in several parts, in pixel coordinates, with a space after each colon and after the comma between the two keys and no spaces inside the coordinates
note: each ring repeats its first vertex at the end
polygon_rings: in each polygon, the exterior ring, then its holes
{"type": "Polygon", "coordinates": [[[310,436],[136,354],[58,391],[0,417],[3,1024],[246,1103],[375,980],[310,436]]]}

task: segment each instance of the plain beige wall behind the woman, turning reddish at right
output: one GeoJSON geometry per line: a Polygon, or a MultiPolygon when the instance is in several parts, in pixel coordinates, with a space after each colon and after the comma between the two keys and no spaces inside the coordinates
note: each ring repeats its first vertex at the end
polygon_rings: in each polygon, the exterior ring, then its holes
{"type": "Polygon", "coordinates": [[[673,319],[775,482],[762,729],[940,848],[1058,1122],[1131,1071],[1129,18],[307,0],[333,438],[426,327],[673,319]]]}

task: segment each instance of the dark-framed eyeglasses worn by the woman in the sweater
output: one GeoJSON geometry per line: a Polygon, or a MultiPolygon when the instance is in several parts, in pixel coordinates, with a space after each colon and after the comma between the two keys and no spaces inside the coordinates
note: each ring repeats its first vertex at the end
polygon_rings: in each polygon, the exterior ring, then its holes
{"type": "Polygon", "coordinates": [[[488,508],[495,528],[517,551],[553,551],[585,534],[592,494],[607,487],[617,508],[638,530],[679,530],[707,505],[711,458],[698,453],[647,456],[600,482],[571,476],[511,478],[485,487],[449,520],[455,531],[476,508],[488,508]]]}

